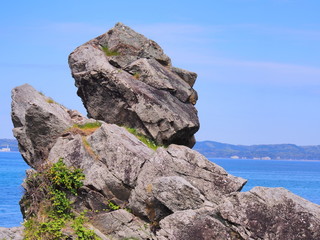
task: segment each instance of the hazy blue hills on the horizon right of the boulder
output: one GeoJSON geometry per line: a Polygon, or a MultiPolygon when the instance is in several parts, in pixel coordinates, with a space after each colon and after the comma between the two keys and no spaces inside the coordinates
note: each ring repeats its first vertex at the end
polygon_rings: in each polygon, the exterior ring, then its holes
{"type": "Polygon", "coordinates": [[[232,145],[214,141],[197,142],[194,150],[208,158],[265,158],[320,160],[320,145],[297,146],[294,144],[232,145]]]}

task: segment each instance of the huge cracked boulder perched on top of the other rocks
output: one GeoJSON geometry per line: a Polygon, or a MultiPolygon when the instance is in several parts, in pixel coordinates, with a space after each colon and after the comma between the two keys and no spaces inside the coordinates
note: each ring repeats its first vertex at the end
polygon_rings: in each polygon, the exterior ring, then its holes
{"type": "Polygon", "coordinates": [[[194,145],[196,74],[173,68],[154,41],[118,23],[72,52],[69,66],[90,117],[136,128],[159,144],[194,145]]]}

